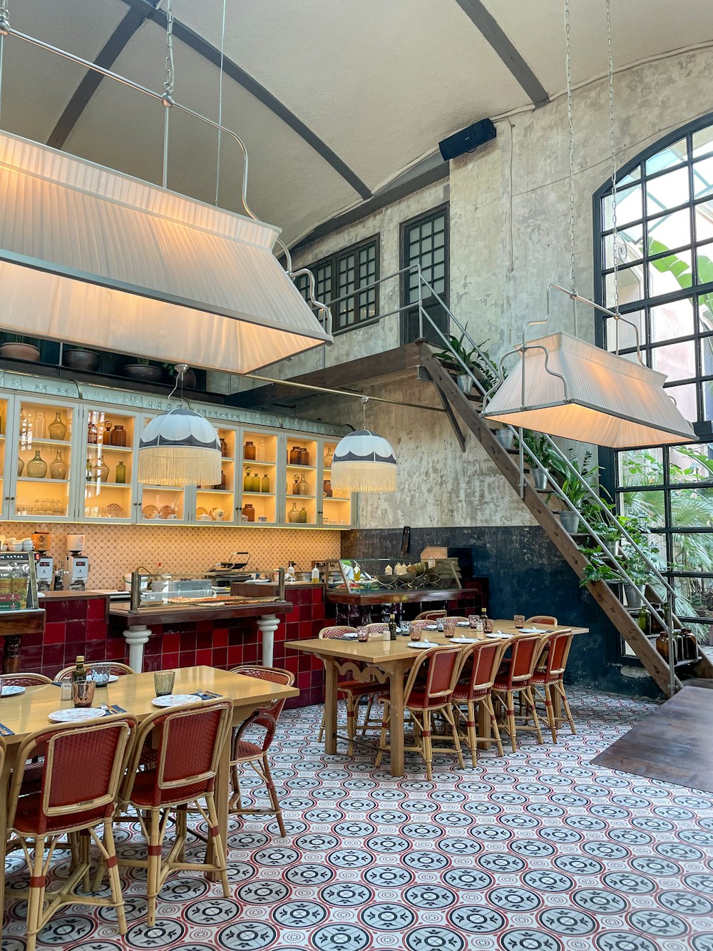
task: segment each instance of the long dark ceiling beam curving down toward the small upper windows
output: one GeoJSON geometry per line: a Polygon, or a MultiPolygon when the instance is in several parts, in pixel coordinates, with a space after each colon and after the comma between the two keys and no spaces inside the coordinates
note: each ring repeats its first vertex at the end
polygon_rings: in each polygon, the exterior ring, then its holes
{"type": "MultiPolygon", "coordinates": [[[[153,20],[154,23],[157,23],[162,29],[166,29],[164,10],[154,10],[149,0],[124,0],[124,3],[128,4],[128,6],[134,10],[147,10],[146,16],[148,19],[153,20]]],[[[202,36],[186,27],[185,24],[179,20],[174,20],[173,22],[173,35],[176,39],[181,40],[187,47],[197,52],[203,59],[212,63],[213,66],[221,67],[221,50],[211,46],[202,36]]],[[[228,59],[227,56],[223,56],[222,68],[226,76],[229,76],[238,83],[239,86],[252,96],[255,96],[264,107],[273,112],[286,126],[289,126],[293,132],[296,132],[299,138],[304,140],[308,146],[311,146],[328,165],[334,168],[345,182],[354,188],[361,198],[366,199],[371,197],[371,189],[361,181],[357,173],[350,168],[346,162],[340,159],[337,153],[325,142],[322,142],[319,136],[309,126],[305,126],[294,112],[290,111],[284,103],[280,102],[279,99],[264,86],[261,86],[257,79],[245,72],[244,69],[241,69],[237,63],[228,59]]]]}

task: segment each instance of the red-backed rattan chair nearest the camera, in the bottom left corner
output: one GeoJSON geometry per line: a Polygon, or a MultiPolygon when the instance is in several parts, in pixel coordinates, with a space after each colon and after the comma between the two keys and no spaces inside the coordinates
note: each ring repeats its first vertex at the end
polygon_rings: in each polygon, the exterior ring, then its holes
{"type": "Polygon", "coordinates": [[[8,832],[19,841],[30,870],[29,890],[14,893],[28,899],[27,951],[34,951],[38,932],[67,904],[108,905],[116,910],[119,934],[126,933],[112,817],[135,729],[133,717],[122,713],[81,726],[64,724],[37,730],[18,750],[18,766],[39,753],[45,757],[41,790],[22,795],[24,770],[17,768],[12,773],[8,804],[8,832]],[[95,831],[97,825],[103,825],[102,839],[95,831]],[[46,893],[52,854],[57,840],[65,835],[74,842],[75,861],[61,887],[46,893]],[[109,898],[74,893],[81,880],[88,892],[89,837],[108,868],[109,898]]]}

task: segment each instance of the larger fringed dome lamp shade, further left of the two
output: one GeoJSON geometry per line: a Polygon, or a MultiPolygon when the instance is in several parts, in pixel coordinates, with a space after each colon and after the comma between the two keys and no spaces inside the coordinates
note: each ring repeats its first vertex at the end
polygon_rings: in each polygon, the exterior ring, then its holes
{"type": "Polygon", "coordinates": [[[139,481],[219,485],[221,440],[207,419],[179,406],[154,417],[139,439],[139,481]]]}

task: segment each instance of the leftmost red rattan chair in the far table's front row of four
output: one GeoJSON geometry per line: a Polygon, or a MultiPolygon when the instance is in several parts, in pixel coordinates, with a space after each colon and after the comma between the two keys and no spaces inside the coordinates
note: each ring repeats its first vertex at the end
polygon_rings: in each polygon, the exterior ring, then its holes
{"type": "MultiPolygon", "coordinates": [[[[414,746],[404,747],[404,750],[412,750],[421,754],[426,764],[428,779],[431,779],[433,774],[434,751],[439,753],[454,752],[458,757],[459,766],[464,767],[460,740],[455,729],[453,709],[451,708],[453,689],[458,681],[458,674],[462,665],[463,651],[460,648],[424,650],[409,671],[404,687],[404,710],[411,715],[414,723],[414,746]],[[421,674],[420,678],[419,674],[421,674]],[[434,713],[440,713],[450,726],[454,749],[437,747],[434,750],[431,742],[434,713]]],[[[388,694],[382,694],[381,702],[384,705],[384,715],[381,722],[381,738],[378,754],[376,755],[376,767],[381,765],[383,754],[390,749],[386,743],[386,731],[391,726],[391,704],[389,703],[388,694]]]]}

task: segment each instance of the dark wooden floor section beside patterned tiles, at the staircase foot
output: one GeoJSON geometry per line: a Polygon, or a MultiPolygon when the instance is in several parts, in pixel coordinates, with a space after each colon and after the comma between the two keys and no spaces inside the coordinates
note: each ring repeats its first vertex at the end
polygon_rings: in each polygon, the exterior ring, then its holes
{"type": "Polygon", "coordinates": [[[713,792],[713,690],[684,687],[592,762],[713,792]]]}

